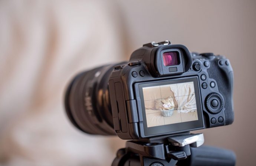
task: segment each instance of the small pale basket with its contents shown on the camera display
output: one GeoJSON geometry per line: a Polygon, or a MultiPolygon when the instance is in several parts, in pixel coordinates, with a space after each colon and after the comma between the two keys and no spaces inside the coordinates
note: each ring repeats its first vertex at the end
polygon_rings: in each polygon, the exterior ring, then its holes
{"type": "Polygon", "coordinates": [[[173,98],[167,98],[162,100],[162,107],[160,111],[164,117],[170,117],[173,115],[174,111],[174,101],[173,98]]]}

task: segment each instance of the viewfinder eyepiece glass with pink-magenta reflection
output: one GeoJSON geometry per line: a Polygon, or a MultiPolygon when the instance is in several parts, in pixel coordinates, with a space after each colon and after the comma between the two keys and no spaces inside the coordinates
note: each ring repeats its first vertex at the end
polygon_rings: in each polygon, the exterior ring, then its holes
{"type": "Polygon", "coordinates": [[[164,66],[174,66],[180,64],[178,52],[164,52],[163,53],[164,66]]]}

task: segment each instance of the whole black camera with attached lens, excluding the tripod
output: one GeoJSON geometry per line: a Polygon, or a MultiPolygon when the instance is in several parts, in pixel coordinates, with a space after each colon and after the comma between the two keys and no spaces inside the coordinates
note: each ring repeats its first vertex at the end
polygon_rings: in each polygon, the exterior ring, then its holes
{"type": "Polygon", "coordinates": [[[151,42],[128,62],[75,76],[65,108],[83,132],[137,140],[232,124],[232,93],[224,56],[151,42]]]}

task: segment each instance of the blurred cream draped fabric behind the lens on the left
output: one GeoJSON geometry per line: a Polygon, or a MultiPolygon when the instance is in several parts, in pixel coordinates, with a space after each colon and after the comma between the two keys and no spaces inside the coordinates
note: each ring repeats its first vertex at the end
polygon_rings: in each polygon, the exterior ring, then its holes
{"type": "Polygon", "coordinates": [[[110,165],[108,139],[76,130],[63,95],[79,71],[124,60],[117,10],[103,0],[0,2],[0,165],[110,165]]]}

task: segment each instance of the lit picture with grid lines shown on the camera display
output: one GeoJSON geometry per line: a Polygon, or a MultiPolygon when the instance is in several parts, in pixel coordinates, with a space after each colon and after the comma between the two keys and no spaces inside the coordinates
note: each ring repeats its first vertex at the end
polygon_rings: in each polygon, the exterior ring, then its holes
{"type": "Polygon", "coordinates": [[[143,87],[147,127],[197,121],[194,82],[143,87]]]}

